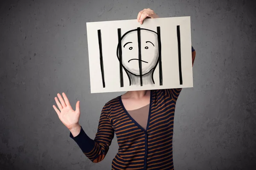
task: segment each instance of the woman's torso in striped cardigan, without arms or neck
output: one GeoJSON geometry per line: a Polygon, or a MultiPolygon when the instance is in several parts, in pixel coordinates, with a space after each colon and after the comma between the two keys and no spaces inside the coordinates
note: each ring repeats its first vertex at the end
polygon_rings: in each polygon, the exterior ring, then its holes
{"type": "Polygon", "coordinates": [[[176,100],[165,90],[152,90],[148,113],[143,112],[143,120],[128,113],[121,96],[111,103],[109,119],[119,145],[112,169],[173,169],[172,134],[176,100]]]}

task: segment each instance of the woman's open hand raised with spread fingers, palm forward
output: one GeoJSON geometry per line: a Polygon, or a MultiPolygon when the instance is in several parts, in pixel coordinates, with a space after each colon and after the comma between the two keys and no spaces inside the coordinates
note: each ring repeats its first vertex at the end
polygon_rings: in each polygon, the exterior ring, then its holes
{"type": "Polygon", "coordinates": [[[52,107],[58,114],[59,119],[61,122],[69,129],[72,130],[74,127],[78,127],[79,125],[79,117],[80,117],[80,101],[76,102],[76,111],[74,111],[70,105],[69,100],[67,99],[66,94],[62,93],[63,98],[61,97],[61,94],[57,94],[58,98],[55,97],[56,104],[58,105],[58,108],[56,108],[55,105],[52,107]],[[60,100],[60,102],[58,101],[60,100]]]}

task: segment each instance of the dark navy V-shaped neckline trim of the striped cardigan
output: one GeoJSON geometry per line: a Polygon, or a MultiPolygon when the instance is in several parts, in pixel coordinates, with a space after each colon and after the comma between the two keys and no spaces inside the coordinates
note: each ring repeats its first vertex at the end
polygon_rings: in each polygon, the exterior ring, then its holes
{"type": "Polygon", "coordinates": [[[121,104],[121,106],[122,106],[122,109],[125,111],[125,113],[127,114],[127,116],[131,119],[131,121],[132,122],[134,122],[134,124],[139,128],[139,129],[141,129],[143,132],[147,132],[147,130],[148,130],[148,126],[149,126],[149,122],[150,122],[150,116],[151,116],[151,106],[152,106],[152,98],[153,98],[153,94],[152,94],[153,92],[152,92],[152,90],[150,91],[150,102],[149,102],[149,110],[148,110],[148,122],[147,122],[147,127],[146,127],[146,130],[140,125],[140,124],[138,124],[132,117],[131,117],[131,115],[128,113],[128,111],[125,109],[125,106],[124,106],[124,104],[123,104],[123,102],[122,102],[122,98],[121,98],[121,96],[122,95],[120,95],[119,96],[119,102],[120,102],[120,104],[121,104]]]}

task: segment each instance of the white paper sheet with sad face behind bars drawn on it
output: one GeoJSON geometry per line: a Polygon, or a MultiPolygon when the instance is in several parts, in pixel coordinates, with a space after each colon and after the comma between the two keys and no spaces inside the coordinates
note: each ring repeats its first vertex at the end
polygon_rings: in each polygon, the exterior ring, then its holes
{"type": "Polygon", "coordinates": [[[190,17],[91,22],[87,40],[91,93],[193,87],[190,17]]]}

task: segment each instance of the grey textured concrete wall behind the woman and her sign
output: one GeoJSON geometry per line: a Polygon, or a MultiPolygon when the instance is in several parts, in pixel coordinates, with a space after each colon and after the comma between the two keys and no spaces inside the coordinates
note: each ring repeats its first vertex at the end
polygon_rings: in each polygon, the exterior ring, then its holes
{"type": "Polygon", "coordinates": [[[90,94],[86,22],[191,16],[194,88],[175,111],[175,170],[256,167],[255,0],[8,0],[0,5],[0,169],[109,170],[89,161],[52,105],[65,92],[94,139],[105,102],[90,94]]]}

